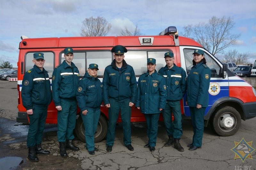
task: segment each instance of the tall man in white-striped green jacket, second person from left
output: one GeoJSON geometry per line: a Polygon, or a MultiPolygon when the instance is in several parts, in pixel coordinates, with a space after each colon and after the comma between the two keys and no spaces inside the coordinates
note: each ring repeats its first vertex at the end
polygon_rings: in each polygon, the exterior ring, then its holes
{"type": "Polygon", "coordinates": [[[52,73],[52,98],[58,110],[58,141],[60,143],[60,156],[68,156],[66,149],[79,151],[73,144],[73,130],[76,126],[76,90],[79,71],[72,60],[74,58],[73,49],[64,49],[65,60],[58,65],[52,73]],[[66,146],[65,146],[66,141],[66,146]]]}

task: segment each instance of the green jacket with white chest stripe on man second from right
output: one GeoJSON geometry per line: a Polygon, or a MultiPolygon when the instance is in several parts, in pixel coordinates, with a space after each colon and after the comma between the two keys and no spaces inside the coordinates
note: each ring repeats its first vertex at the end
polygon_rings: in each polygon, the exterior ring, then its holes
{"type": "Polygon", "coordinates": [[[181,100],[187,91],[185,70],[173,64],[171,69],[165,65],[158,73],[163,75],[166,80],[167,101],[181,100]]]}

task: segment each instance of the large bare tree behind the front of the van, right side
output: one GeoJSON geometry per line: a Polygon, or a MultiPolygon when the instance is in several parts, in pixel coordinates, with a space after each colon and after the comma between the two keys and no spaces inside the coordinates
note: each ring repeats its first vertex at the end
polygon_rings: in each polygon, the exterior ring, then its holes
{"type": "Polygon", "coordinates": [[[181,35],[193,37],[195,41],[213,55],[223,54],[224,49],[236,44],[236,40],[241,36],[241,33],[231,33],[234,27],[235,21],[233,17],[223,16],[222,18],[217,18],[213,16],[208,23],[202,22],[195,26],[184,26],[181,35]]]}

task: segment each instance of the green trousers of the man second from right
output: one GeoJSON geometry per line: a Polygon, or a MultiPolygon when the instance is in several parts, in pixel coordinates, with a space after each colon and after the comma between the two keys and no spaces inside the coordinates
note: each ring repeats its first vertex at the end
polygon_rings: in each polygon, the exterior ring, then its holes
{"type": "Polygon", "coordinates": [[[180,138],[183,134],[181,125],[180,101],[167,101],[165,109],[162,111],[164,125],[167,135],[173,135],[174,138],[180,138]],[[172,123],[172,113],[174,120],[172,123]]]}

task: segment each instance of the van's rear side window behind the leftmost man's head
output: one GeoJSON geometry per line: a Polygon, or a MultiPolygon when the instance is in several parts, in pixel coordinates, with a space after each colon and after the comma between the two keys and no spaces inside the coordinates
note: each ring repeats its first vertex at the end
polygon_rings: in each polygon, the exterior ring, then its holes
{"type": "Polygon", "coordinates": [[[42,52],[42,51],[35,51],[29,52],[25,56],[25,72],[32,69],[34,63],[32,60],[34,59],[34,53],[44,53],[44,69],[48,71],[49,78],[52,78],[52,72],[54,69],[54,53],[53,52],[42,52]]]}

